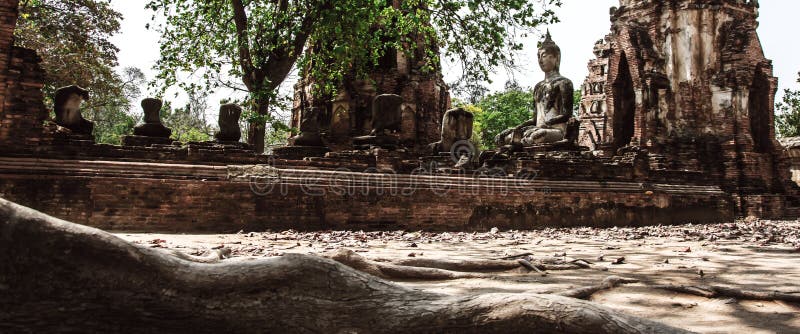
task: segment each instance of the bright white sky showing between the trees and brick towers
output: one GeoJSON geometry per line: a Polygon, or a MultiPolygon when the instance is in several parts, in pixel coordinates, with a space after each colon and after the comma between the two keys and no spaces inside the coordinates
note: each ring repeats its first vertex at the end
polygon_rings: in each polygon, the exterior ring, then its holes
{"type": "MultiPolygon", "coordinates": [[[[135,66],[145,71],[148,79],[154,76],[151,70],[158,58],[158,34],[146,30],[152,12],[144,9],[144,0],[112,0],[111,4],[124,15],[122,31],[112,39],[119,47],[121,67],[135,66]]],[[[561,73],[572,79],[575,86],[583,83],[588,70],[587,63],[594,56],[594,42],[610,32],[609,8],[618,6],[618,0],[565,0],[557,10],[561,23],[549,27],[553,39],[562,51],[561,73]]],[[[785,88],[800,89],[797,72],[800,71],[800,42],[795,33],[800,31],[800,1],[761,0],[760,26],[758,33],[767,58],[773,60],[775,76],[779,78],[780,91],[785,88]],[[793,33],[795,32],[795,33],[793,33]]],[[[543,28],[544,29],[544,28],[543,28]]],[[[518,63],[522,70],[512,76],[522,86],[533,86],[543,78],[535,60],[536,38],[527,40],[528,47],[521,54],[518,63]]],[[[458,73],[445,69],[445,80],[455,80],[458,73]]],[[[493,76],[492,90],[501,90],[509,78],[504,70],[493,76]]],[[[294,82],[284,83],[290,89],[294,82]]],[[[209,97],[209,119],[217,115],[218,101],[227,98],[228,92],[220,92],[209,97]]],[[[779,93],[782,96],[782,93],[779,93]]],[[[173,105],[180,106],[185,101],[179,97],[173,105]]]]}

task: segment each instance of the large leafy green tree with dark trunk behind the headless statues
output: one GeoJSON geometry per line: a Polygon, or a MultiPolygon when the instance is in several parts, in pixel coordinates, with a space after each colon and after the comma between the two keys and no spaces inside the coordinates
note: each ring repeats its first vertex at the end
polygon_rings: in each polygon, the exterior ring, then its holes
{"type": "MultiPolygon", "coordinates": [[[[245,92],[251,114],[249,141],[263,149],[271,102],[295,65],[332,91],[353,73],[362,76],[389,48],[406,50],[424,70],[439,54],[460,61],[465,75],[487,78],[498,65],[513,66],[517,38],[556,20],[560,0],[150,0],[165,17],[158,82],[187,90],[227,87],[245,92]],[[313,52],[304,52],[312,46],[313,52]],[[427,52],[426,52],[427,51],[427,52]],[[190,73],[193,80],[179,80],[190,73]],[[201,81],[196,79],[202,78],[201,81]]],[[[273,107],[274,108],[274,107],[273,107]]],[[[285,126],[283,126],[285,127],[285,126]]]]}

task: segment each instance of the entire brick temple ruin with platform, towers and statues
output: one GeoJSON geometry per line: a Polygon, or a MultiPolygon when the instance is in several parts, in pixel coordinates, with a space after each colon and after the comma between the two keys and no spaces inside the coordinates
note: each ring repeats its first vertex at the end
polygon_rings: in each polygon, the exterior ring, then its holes
{"type": "Polygon", "coordinates": [[[571,84],[557,74],[560,50],[545,40],[542,119],[514,132],[519,147],[480,159],[471,115],[445,112],[440,72],[421,71],[405,52],[390,52],[369,80],[346,82],[334,97],[315,95],[309,78],[298,83],[292,126],[300,132],[272,155],[239,142],[234,105],[221,107],[213,142],[144,131],[160,124],[154,100],[143,104],[148,117],[134,136],[161,143],[65,136],[46,122],[35,53],[10,47],[16,3],[3,4],[0,194],[75,222],[137,231],[476,230],[798,213],[774,138],[775,78],[753,2],[622,1],[595,47],[580,125],[571,84]]]}

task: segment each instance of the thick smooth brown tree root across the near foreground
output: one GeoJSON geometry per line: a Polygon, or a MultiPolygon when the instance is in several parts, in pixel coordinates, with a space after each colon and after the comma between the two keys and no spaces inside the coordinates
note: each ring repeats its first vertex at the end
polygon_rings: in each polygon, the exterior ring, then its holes
{"type": "Polygon", "coordinates": [[[577,299],[449,296],[289,254],[200,263],[0,199],[0,332],[685,333],[577,299]]]}

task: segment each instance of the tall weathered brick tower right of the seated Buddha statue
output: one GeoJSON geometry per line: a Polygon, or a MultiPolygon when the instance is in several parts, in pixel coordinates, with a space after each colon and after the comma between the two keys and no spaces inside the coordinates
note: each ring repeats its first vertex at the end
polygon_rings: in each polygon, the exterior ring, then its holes
{"type": "Polygon", "coordinates": [[[742,198],[742,214],[749,195],[789,191],[757,17],[757,1],[621,0],[589,64],[582,143],[702,171],[742,198]]]}

